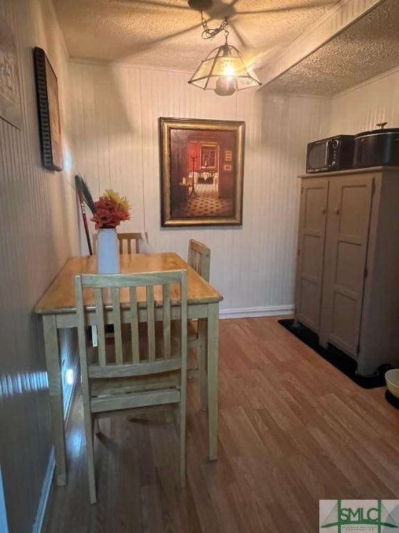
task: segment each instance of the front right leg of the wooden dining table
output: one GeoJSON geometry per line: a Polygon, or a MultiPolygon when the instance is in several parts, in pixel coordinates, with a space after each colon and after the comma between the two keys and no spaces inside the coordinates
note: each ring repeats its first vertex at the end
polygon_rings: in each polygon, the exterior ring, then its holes
{"type": "Polygon", "coordinates": [[[218,459],[219,303],[208,305],[208,423],[209,459],[218,459]]]}

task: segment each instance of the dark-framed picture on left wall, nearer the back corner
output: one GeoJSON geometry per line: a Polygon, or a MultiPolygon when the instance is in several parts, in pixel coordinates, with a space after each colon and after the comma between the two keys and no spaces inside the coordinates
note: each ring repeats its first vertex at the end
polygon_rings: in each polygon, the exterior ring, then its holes
{"type": "Polygon", "coordinates": [[[46,169],[60,171],[63,162],[57,76],[55,76],[44,50],[36,47],[33,56],[35,59],[42,162],[46,169]]]}

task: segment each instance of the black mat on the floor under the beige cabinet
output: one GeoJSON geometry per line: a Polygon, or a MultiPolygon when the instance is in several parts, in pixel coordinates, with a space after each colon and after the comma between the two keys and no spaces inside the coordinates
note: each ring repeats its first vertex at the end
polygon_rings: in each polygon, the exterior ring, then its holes
{"type": "Polygon", "coordinates": [[[362,376],[357,374],[357,363],[354,359],[346,355],[338,348],[329,346],[327,349],[319,345],[319,337],[316,333],[310,329],[305,328],[304,325],[294,325],[292,319],[279,320],[283,328],[290,331],[292,335],[295,335],[299,340],[305,343],[309,348],[312,348],[323,359],[326,359],[332,366],[351,378],[353,382],[362,387],[363,389],[375,389],[376,387],[385,387],[385,372],[391,369],[391,365],[384,364],[379,367],[378,372],[375,375],[362,376]]]}

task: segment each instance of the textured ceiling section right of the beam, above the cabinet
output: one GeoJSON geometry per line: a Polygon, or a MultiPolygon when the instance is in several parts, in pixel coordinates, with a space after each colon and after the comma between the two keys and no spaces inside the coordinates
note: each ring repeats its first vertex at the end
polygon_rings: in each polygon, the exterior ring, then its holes
{"type": "Polygon", "coordinates": [[[332,96],[398,65],[399,0],[385,0],[268,87],[332,96]]]}

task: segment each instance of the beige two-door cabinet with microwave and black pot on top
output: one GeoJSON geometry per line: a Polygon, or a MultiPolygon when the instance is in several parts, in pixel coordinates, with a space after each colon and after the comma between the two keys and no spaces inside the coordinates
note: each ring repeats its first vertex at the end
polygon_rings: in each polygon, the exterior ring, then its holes
{"type": "Polygon", "coordinates": [[[399,366],[399,169],[301,176],[295,319],[362,375],[399,366]]]}

